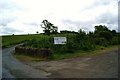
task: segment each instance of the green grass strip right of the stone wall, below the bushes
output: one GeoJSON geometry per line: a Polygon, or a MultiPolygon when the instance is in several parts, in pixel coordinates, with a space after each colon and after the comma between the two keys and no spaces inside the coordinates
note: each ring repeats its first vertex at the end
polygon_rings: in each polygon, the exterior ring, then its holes
{"type": "Polygon", "coordinates": [[[75,58],[75,57],[87,57],[87,56],[96,56],[104,53],[108,53],[110,51],[118,50],[118,46],[109,46],[109,47],[98,47],[94,51],[77,51],[75,53],[67,53],[67,54],[55,54],[54,60],[66,59],[66,58],[75,58]]]}

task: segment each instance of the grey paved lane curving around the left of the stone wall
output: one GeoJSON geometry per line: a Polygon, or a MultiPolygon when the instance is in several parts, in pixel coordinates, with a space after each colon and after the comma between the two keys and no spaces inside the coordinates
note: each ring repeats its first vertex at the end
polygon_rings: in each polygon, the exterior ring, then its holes
{"type": "Polygon", "coordinates": [[[34,69],[21,63],[12,56],[15,47],[2,51],[2,78],[47,78],[50,73],[34,69]]]}

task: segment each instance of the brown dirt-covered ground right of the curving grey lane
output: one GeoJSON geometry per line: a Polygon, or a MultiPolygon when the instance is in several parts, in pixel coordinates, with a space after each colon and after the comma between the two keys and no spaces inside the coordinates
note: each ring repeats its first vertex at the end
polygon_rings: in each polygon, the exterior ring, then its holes
{"type": "Polygon", "coordinates": [[[59,61],[42,61],[28,65],[52,73],[54,78],[117,78],[118,51],[94,57],[64,59],[59,61]]]}

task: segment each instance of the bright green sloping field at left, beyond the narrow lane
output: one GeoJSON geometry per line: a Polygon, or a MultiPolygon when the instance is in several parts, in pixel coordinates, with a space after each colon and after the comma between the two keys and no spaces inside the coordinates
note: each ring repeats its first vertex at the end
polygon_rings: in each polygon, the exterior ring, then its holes
{"type": "Polygon", "coordinates": [[[43,37],[43,35],[36,35],[36,34],[2,36],[2,46],[6,48],[6,47],[19,44],[19,43],[23,43],[28,40],[32,40],[35,38],[41,38],[41,37],[43,37]]]}

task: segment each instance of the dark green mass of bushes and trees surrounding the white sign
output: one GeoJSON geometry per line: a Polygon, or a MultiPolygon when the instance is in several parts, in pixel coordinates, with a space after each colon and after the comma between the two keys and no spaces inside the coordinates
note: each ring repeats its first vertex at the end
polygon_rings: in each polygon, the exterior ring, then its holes
{"type": "Polygon", "coordinates": [[[118,36],[115,30],[110,30],[104,25],[95,26],[94,32],[86,33],[83,30],[78,32],[74,31],[60,31],[61,34],[50,34],[49,36],[44,35],[41,38],[34,38],[27,43],[24,47],[34,47],[34,48],[50,48],[53,53],[74,53],[75,51],[90,51],[95,50],[98,46],[108,47],[111,45],[118,45],[118,36]],[[66,44],[54,44],[54,37],[67,37],[66,44]]]}

